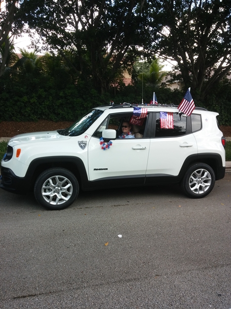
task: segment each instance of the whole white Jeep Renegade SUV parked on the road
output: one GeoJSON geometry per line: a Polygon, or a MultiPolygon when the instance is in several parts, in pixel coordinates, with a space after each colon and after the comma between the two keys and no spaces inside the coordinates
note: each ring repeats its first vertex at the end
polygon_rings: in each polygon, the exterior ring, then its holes
{"type": "Polygon", "coordinates": [[[48,209],[70,206],[79,187],[180,183],[191,198],[208,195],[225,175],[218,113],[196,107],[186,116],[174,105],[139,105],[147,108],[142,125],[133,125],[134,138],[120,139],[135,106],[99,106],[67,129],[13,137],[1,161],[0,188],[18,194],[34,190],[48,209]],[[170,128],[162,125],[161,112],[171,114],[170,128]]]}

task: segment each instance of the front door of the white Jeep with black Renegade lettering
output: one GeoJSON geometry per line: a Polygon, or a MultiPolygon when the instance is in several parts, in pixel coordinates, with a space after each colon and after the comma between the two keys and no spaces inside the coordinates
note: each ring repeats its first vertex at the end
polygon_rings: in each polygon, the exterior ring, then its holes
{"type": "MultiPolygon", "coordinates": [[[[124,115],[110,117],[105,120],[101,128],[102,130],[114,128],[118,136],[120,134],[119,126],[124,120],[124,115]]],[[[96,132],[88,144],[89,180],[104,180],[106,185],[117,184],[118,186],[144,184],[150,139],[144,138],[144,136],[143,138],[117,138],[112,141],[110,149],[102,150],[98,134],[99,132],[96,132]]]]}

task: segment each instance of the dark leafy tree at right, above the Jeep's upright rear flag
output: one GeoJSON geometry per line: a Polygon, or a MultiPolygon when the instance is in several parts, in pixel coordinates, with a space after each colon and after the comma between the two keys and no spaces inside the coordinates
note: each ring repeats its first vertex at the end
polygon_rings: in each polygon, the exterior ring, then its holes
{"type": "Polygon", "coordinates": [[[175,60],[201,99],[231,70],[230,0],[157,0],[162,31],[155,50],[175,60]]]}

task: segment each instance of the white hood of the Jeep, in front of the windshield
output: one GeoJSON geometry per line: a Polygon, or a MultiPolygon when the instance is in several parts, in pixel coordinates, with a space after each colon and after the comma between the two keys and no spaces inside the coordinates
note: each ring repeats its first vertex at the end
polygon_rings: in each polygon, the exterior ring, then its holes
{"type": "Polygon", "coordinates": [[[8,145],[13,147],[15,145],[25,144],[25,143],[32,143],[32,142],[51,142],[57,140],[69,140],[71,136],[64,136],[58,134],[57,131],[44,131],[44,132],[32,132],[32,133],[25,133],[19,134],[12,137],[8,145]]]}

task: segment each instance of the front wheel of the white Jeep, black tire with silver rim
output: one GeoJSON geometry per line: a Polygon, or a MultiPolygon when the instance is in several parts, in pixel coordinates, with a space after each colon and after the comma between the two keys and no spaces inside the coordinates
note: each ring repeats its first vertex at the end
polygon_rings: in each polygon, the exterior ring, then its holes
{"type": "Polygon", "coordinates": [[[75,175],[65,168],[51,168],[36,180],[34,194],[37,202],[50,210],[60,210],[76,200],[79,185],[75,175]]]}

